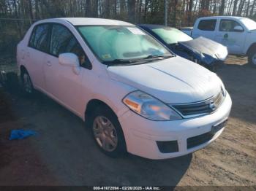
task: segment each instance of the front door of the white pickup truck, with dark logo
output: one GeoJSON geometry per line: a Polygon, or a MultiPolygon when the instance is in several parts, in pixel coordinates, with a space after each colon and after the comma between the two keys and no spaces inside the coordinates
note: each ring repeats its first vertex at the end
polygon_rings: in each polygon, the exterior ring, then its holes
{"type": "MultiPolygon", "coordinates": [[[[241,54],[246,39],[246,31],[236,31],[235,27],[241,26],[236,20],[222,19],[217,31],[217,42],[225,45],[231,54],[241,54]]],[[[241,28],[244,28],[241,26],[241,28]]]]}

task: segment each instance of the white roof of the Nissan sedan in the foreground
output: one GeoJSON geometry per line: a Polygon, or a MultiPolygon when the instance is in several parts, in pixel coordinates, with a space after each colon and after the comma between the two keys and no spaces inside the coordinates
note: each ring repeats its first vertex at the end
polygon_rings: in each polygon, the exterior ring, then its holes
{"type": "Polygon", "coordinates": [[[127,23],[121,20],[111,20],[102,18],[90,17],[60,17],[39,20],[39,23],[67,21],[73,26],[134,26],[132,23],[127,23]]]}

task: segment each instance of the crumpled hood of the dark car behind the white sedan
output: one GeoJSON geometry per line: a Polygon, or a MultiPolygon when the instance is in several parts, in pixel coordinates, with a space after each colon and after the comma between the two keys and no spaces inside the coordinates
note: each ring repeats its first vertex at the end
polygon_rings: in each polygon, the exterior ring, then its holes
{"type": "Polygon", "coordinates": [[[228,55],[227,47],[203,36],[186,42],[178,42],[178,45],[201,55],[201,59],[205,63],[211,63],[216,60],[225,61],[228,55]]]}

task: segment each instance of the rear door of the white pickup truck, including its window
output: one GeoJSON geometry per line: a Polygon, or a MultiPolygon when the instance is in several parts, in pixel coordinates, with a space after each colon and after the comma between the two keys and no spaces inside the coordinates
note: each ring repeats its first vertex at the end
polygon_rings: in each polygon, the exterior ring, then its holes
{"type": "Polygon", "coordinates": [[[192,32],[193,38],[204,36],[208,39],[215,40],[215,34],[217,31],[217,19],[198,20],[198,24],[195,26],[197,26],[197,28],[194,28],[192,32]]]}

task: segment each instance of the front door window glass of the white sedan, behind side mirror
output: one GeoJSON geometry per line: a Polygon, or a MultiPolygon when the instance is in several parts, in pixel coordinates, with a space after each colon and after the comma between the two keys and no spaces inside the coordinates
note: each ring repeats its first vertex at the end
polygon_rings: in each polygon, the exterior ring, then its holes
{"type": "Polygon", "coordinates": [[[75,36],[64,26],[54,24],[50,40],[50,53],[59,56],[61,53],[72,52],[78,56],[80,66],[89,68],[91,63],[83,52],[75,36]]]}

